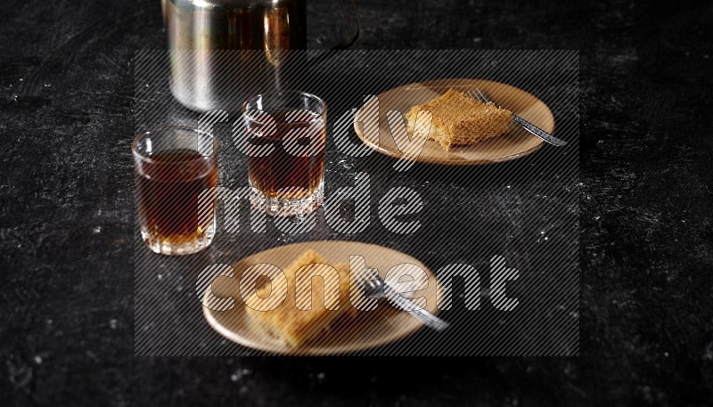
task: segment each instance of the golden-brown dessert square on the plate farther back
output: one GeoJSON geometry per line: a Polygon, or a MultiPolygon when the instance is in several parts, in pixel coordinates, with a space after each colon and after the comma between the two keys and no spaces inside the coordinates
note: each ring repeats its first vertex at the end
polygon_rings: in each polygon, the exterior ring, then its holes
{"type": "Polygon", "coordinates": [[[415,105],[406,113],[406,121],[409,134],[435,140],[448,151],[453,146],[471,145],[504,134],[512,123],[512,113],[451,88],[430,102],[415,105]],[[422,110],[430,111],[430,126],[416,122],[422,110]]]}

